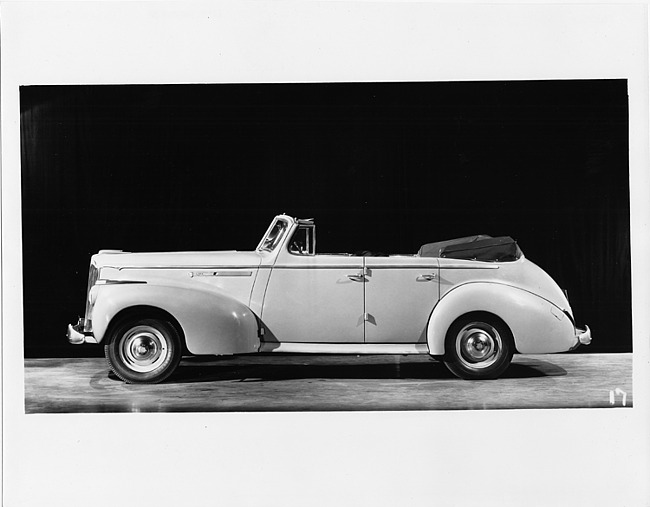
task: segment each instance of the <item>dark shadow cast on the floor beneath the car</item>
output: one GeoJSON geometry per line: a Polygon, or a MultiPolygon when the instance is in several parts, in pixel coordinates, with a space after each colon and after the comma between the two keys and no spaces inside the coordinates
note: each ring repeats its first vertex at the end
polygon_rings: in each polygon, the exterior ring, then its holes
{"type": "MultiPolygon", "coordinates": [[[[277,358],[274,358],[277,359],[277,358]]],[[[292,362],[260,362],[243,364],[231,359],[186,358],[165,381],[168,384],[202,383],[219,381],[273,382],[302,379],[321,380],[450,380],[458,381],[447,367],[434,359],[425,361],[399,360],[397,362],[362,362],[358,358],[350,362],[329,363],[319,359],[292,362]]],[[[566,370],[548,361],[527,359],[525,363],[513,363],[500,379],[526,379],[566,375],[566,370]]],[[[110,378],[118,380],[112,373],[110,378]]]]}

